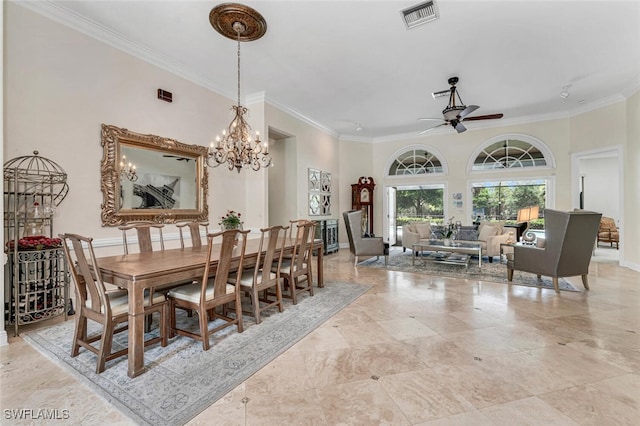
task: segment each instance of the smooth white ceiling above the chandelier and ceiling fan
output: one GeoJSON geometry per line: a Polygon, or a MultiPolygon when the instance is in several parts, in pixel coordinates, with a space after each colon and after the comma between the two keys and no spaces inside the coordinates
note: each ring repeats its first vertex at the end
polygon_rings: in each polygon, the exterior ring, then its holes
{"type": "MultiPolygon", "coordinates": [[[[400,10],[417,3],[243,2],[268,25],[242,43],[243,99],[263,95],[335,135],[384,140],[438,124],[417,118],[441,117],[448,98],[431,93],[454,75],[464,103],[480,106],[470,116],[504,113],[469,129],[568,116],[640,87],[640,1],[436,0],[439,19],[407,30],[400,10]]],[[[208,19],[217,4],[25,6],[235,99],[236,44],[208,19]]]]}

